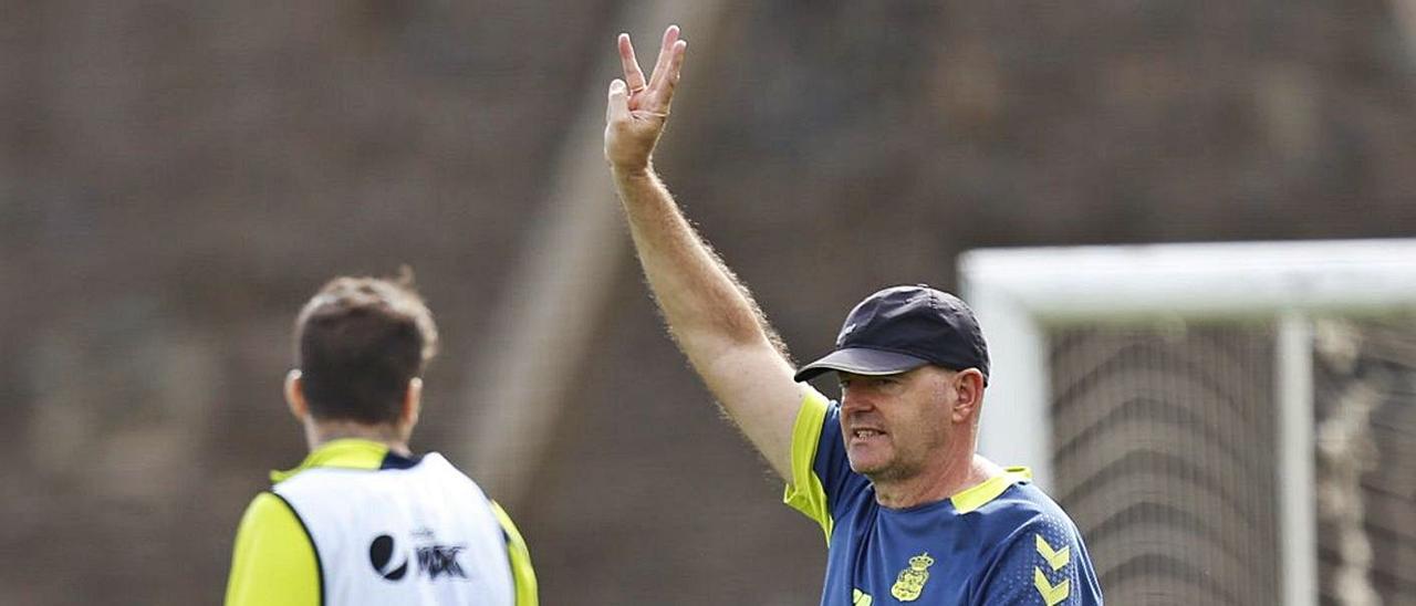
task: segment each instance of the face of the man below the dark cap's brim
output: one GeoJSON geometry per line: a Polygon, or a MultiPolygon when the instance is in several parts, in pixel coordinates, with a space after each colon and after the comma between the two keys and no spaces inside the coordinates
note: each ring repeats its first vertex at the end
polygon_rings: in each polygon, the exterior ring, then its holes
{"type": "Polygon", "coordinates": [[[851,469],[872,481],[895,481],[943,460],[954,425],[954,375],[936,367],[884,377],[838,372],[851,469]]]}

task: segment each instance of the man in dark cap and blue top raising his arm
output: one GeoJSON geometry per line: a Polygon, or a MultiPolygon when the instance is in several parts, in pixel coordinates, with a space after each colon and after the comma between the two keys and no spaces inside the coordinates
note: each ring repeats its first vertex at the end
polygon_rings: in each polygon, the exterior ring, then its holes
{"type": "Polygon", "coordinates": [[[649,79],[627,35],[605,156],[668,330],[752,445],[816,520],[823,605],[1093,605],[1076,527],[1029,481],[974,452],[988,353],[973,311],[927,286],[881,290],[828,355],[793,370],[748,289],[654,174],[687,45],[664,33],[649,79]],[[840,404],[806,379],[835,372],[840,404]]]}

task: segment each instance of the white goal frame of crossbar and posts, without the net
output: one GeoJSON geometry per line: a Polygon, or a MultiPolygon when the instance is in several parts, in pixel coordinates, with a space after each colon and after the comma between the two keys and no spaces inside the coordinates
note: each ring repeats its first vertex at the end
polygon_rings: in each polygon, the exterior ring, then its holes
{"type": "Polygon", "coordinates": [[[1313,314],[1416,307],[1416,239],[978,249],[963,299],[993,357],[980,450],[1052,476],[1048,328],[1076,323],[1269,319],[1286,605],[1317,603],[1313,314]]]}

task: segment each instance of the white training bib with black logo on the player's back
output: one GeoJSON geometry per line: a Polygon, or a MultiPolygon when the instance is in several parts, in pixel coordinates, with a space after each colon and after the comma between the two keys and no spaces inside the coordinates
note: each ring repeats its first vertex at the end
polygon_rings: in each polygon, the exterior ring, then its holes
{"type": "Polygon", "coordinates": [[[514,603],[491,503],[438,453],[395,467],[303,469],[272,491],[309,532],[326,605],[514,603]]]}

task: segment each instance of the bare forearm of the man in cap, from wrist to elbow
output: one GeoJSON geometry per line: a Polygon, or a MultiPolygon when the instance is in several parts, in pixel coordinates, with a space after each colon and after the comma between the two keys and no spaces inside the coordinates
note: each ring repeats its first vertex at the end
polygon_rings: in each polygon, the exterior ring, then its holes
{"type": "Polygon", "coordinates": [[[613,174],[644,276],[690,360],[701,365],[742,345],[780,351],[746,287],[688,224],[654,171],[613,174]]]}

